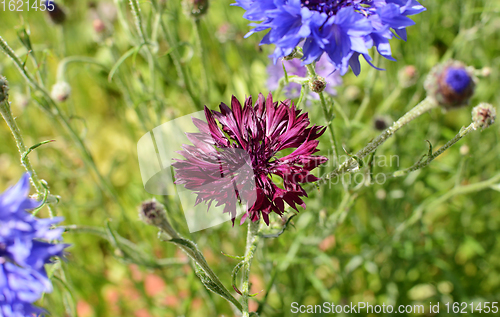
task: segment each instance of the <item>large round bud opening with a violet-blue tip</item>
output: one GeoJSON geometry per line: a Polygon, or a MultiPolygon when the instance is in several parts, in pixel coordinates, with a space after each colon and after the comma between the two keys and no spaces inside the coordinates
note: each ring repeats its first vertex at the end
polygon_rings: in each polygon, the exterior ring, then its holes
{"type": "Polygon", "coordinates": [[[445,109],[450,109],[469,103],[476,81],[472,67],[451,60],[435,66],[424,85],[427,96],[434,98],[445,109]]]}

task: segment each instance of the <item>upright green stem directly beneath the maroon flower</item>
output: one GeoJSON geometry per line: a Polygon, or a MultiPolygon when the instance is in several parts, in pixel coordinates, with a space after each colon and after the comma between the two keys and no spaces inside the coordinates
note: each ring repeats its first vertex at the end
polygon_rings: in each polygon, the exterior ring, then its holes
{"type": "Polygon", "coordinates": [[[250,268],[252,266],[253,255],[259,243],[259,221],[250,221],[248,224],[247,246],[245,249],[245,259],[243,260],[243,277],[241,286],[241,305],[243,306],[242,317],[249,317],[248,299],[250,298],[250,268]]]}

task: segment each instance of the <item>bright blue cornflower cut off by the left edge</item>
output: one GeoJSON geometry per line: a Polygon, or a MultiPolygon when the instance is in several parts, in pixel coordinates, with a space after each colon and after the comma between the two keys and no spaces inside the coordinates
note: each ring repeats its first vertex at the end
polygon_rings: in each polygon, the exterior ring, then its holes
{"type": "Polygon", "coordinates": [[[25,174],[0,195],[0,316],[43,313],[32,303],[52,291],[44,265],[67,247],[44,242],[61,238],[62,228],[50,228],[61,218],[38,219],[28,213],[40,205],[27,198],[29,188],[29,174],[25,174]]]}

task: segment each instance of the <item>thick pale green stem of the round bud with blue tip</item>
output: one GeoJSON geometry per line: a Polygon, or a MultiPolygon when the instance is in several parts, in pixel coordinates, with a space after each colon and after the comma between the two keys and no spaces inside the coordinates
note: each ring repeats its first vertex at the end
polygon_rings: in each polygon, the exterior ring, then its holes
{"type": "Polygon", "coordinates": [[[351,157],[350,159],[342,163],[336,170],[334,170],[330,174],[322,177],[321,181],[319,181],[318,184],[324,184],[327,180],[331,179],[332,177],[344,174],[350,171],[351,169],[357,167],[358,166],[357,160],[360,160],[365,156],[367,156],[368,154],[375,151],[375,149],[377,149],[380,145],[382,145],[385,141],[387,141],[387,139],[393,136],[403,126],[413,121],[414,119],[418,118],[420,115],[436,107],[438,107],[438,104],[433,98],[430,97],[425,98],[413,109],[408,111],[404,116],[399,118],[398,121],[394,122],[394,124],[390,128],[382,132],[382,134],[380,134],[373,141],[368,143],[364,148],[359,150],[355,156],[351,157]]]}

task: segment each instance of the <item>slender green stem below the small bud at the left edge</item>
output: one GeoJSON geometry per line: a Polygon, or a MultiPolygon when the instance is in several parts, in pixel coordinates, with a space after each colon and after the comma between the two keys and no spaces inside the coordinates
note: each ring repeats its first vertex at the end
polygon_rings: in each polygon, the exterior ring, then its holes
{"type": "MultiPolygon", "coordinates": [[[[5,122],[7,123],[7,126],[9,127],[10,131],[12,132],[12,135],[14,136],[14,140],[16,141],[17,148],[19,150],[19,154],[21,156],[21,164],[24,166],[26,171],[30,174],[30,179],[31,183],[33,184],[33,187],[35,187],[38,197],[47,197],[50,192],[46,187],[42,185],[42,181],[40,178],[38,178],[37,173],[35,172],[35,169],[33,168],[33,165],[31,165],[31,161],[26,155],[27,149],[24,144],[24,139],[21,134],[21,130],[19,130],[19,127],[17,126],[16,120],[14,116],[12,115],[12,112],[10,110],[10,103],[9,99],[7,96],[5,96],[5,99],[0,102],[0,113],[2,114],[2,117],[4,118],[5,122]]],[[[51,218],[54,217],[54,212],[52,207],[48,204],[47,205],[48,210],[49,210],[49,216],[51,218]]]]}

